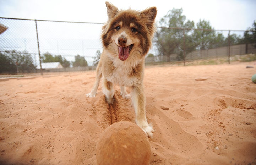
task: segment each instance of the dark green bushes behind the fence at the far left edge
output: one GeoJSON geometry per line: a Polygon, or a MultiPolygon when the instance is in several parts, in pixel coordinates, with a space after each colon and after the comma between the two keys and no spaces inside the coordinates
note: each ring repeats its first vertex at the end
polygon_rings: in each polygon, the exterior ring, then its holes
{"type": "Polygon", "coordinates": [[[0,73],[31,73],[35,70],[32,56],[28,52],[0,52],[0,73]]]}

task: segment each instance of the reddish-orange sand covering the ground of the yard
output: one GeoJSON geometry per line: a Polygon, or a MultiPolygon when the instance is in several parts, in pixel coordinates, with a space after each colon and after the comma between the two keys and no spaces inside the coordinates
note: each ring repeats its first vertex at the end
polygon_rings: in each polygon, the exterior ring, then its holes
{"type": "MultiPolygon", "coordinates": [[[[147,67],[150,164],[256,164],[255,73],[256,62],[147,67]]],[[[118,86],[113,105],[101,88],[86,98],[95,74],[0,79],[0,164],[96,165],[100,133],[135,114],[118,86]]]]}

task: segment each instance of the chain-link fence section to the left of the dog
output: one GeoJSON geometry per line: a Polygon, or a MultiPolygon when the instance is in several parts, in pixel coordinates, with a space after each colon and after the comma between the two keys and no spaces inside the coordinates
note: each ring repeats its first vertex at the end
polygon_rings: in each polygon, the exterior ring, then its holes
{"type": "Polygon", "coordinates": [[[102,23],[0,18],[0,74],[94,69],[97,53],[102,52],[101,27],[102,23]]]}

